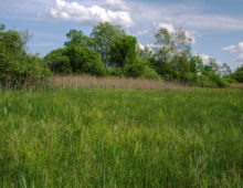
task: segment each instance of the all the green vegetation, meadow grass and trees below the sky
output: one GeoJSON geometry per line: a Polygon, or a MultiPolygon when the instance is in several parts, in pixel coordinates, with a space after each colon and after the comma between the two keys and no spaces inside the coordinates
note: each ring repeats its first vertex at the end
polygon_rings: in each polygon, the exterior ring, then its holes
{"type": "Polygon", "coordinates": [[[0,27],[0,187],[243,185],[242,91],[181,86],[225,87],[242,67],[193,56],[182,29],[152,49],[109,23],[66,38],[42,59],[28,32],[0,27]],[[51,73],[67,75],[23,87],[51,73]]]}

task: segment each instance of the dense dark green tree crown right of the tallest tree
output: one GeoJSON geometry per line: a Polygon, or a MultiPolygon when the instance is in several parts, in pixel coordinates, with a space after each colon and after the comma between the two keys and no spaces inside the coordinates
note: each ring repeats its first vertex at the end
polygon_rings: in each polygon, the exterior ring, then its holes
{"type": "Polygon", "coordinates": [[[110,46],[110,64],[116,67],[124,67],[133,64],[137,59],[137,39],[125,35],[114,40],[110,46]]]}

